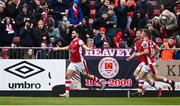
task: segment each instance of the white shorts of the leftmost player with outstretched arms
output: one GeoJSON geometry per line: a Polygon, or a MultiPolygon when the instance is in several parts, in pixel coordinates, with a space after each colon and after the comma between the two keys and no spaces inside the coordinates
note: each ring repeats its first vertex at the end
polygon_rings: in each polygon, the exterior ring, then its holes
{"type": "Polygon", "coordinates": [[[84,64],[83,64],[83,62],[77,62],[77,63],[71,62],[69,64],[67,70],[73,70],[75,72],[79,71],[79,72],[83,73],[84,64]]]}

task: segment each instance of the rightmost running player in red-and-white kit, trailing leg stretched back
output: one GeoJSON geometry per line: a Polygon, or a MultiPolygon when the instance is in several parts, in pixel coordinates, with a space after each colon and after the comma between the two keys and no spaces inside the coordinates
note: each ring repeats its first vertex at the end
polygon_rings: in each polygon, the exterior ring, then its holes
{"type": "Polygon", "coordinates": [[[148,65],[152,73],[153,79],[155,81],[161,81],[161,82],[170,84],[170,86],[172,87],[172,90],[174,91],[175,90],[174,81],[157,75],[157,65],[154,60],[154,57],[157,54],[157,50],[160,50],[160,48],[152,40],[149,39],[150,31],[148,29],[144,29],[141,35],[143,37],[142,47],[144,48],[144,51],[136,53],[136,56],[145,55],[146,56],[145,63],[146,65],[148,65]]]}

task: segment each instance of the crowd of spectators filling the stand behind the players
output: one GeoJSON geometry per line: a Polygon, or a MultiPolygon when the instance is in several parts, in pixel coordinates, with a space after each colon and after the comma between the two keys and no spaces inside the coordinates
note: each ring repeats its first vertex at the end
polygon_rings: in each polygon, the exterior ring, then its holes
{"type": "Polygon", "coordinates": [[[66,46],[74,28],[96,48],[133,47],[144,28],[180,48],[180,0],[0,0],[0,47],[66,46]]]}

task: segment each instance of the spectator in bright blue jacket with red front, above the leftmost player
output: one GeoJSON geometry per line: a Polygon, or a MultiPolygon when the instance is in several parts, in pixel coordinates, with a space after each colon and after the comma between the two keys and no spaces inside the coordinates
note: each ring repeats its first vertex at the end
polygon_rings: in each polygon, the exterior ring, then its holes
{"type": "Polygon", "coordinates": [[[69,8],[68,20],[74,27],[82,24],[83,13],[79,4],[79,0],[74,0],[73,5],[69,8]]]}

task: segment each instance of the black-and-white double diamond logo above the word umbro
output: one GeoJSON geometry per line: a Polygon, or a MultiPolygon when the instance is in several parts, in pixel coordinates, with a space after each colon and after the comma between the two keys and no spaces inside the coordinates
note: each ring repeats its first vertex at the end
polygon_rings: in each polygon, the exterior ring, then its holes
{"type": "Polygon", "coordinates": [[[11,74],[14,74],[18,77],[26,79],[28,77],[35,75],[35,74],[43,72],[45,69],[43,69],[39,66],[36,66],[32,63],[29,63],[27,61],[22,61],[20,63],[17,63],[15,65],[12,65],[12,66],[4,69],[4,70],[11,73],[11,74]]]}

